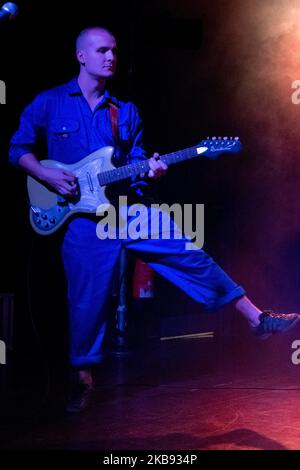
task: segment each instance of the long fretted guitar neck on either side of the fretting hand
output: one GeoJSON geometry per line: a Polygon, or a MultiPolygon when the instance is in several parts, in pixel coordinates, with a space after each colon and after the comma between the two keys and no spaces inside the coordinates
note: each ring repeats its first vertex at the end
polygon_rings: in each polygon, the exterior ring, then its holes
{"type": "MultiPolygon", "coordinates": [[[[180,150],[179,152],[167,153],[165,155],[161,155],[160,159],[168,166],[170,166],[175,163],[183,162],[184,160],[197,157],[199,153],[202,153],[199,151],[200,148],[201,147],[199,146],[189,147],[187,149],[180,150]]],[[[130,163],[119,168],[114,168],[113,170],[108,170],[104,171],[103,173],[99,173],[98,179],[101,186],[106,186],[110,183],[138,176],[141,173],[148,173],[149,170],[149,160],[141,160],[137,163],[130,163]]]]}

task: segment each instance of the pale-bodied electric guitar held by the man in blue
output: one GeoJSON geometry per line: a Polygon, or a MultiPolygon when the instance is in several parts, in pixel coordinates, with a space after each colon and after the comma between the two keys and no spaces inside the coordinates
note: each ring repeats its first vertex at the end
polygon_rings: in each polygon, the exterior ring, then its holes
{"type": "MultiPolygon", "coordinates": [[[[202,140],[195,147],[161,155],[160,158],[167,165],[172,165],[199,155],[216,159],[223,153],[236,153],[240,149],[241,143],[237,137],[213,137],[202,140]]],[[[47,168],[59,168],[74,173],[78,195],[66,199],[47,185],[28,176],[30,222],[33,229],[40,235],[50,235],[75,213],[96,213],[100,204],[109,204],[106,189],[110,184],[150,170],[147,160],[115,167],[112,163],[113,155],[113,147],[102,147],[72,165],[55,160],[42,160],[40,163],[47,168]]]]}

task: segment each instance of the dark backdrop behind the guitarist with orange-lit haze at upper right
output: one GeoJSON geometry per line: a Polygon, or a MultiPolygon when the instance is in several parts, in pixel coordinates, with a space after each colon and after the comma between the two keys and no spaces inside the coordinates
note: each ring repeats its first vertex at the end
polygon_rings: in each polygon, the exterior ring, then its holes
{"type": "MultiPolygon", "coordinates": [[[[300,1],[18,5],[19,17],[0,28],[0,79],[7,86],[7,104],[0,107],[0,290],[16,295],[15,348],[35,344],[28,340],[34,336],[30,315],[48,350],[64,344],[65,286],[59,235],[32,233],[25,178],[8,164],[8,143],[26,104],[76,75],[76,35],[94,24],[111,28],[119,40],[112,86],[139,106],[149,154],[207,135],[240,136],[239,155],[172,167],[159,196],[204,203],[206,251],[262,308],[299,310],[300,136],[291,83],[300,73],[300,1]]],[[[197,330],[198,318],[205,330],[212,321],[166,282],[157,292],[163,333],[197,330]]],[[[227,310],[222,325],[232,328],[227,310]]]]}

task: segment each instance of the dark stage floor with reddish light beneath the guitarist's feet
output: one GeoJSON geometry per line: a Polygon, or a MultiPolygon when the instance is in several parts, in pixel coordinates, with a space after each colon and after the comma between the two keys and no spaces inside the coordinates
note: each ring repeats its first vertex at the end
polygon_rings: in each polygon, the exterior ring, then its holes
{"type": "Polygon", "coordinates": [[[63,411],[64,377],[50,366],[10,393],[1,448],[299,449],[297,336],[157,341],[113,355],[78,415],[63,411]]]}

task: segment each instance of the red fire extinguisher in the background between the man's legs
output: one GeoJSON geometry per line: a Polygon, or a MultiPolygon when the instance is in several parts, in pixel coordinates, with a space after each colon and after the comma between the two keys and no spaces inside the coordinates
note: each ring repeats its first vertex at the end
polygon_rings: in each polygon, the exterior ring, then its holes
{"type": "Polygon", "coordinates": [[[152,298],[154,294],[154,270],[137,258],[133,274],[133,297],[152,298]]]}

